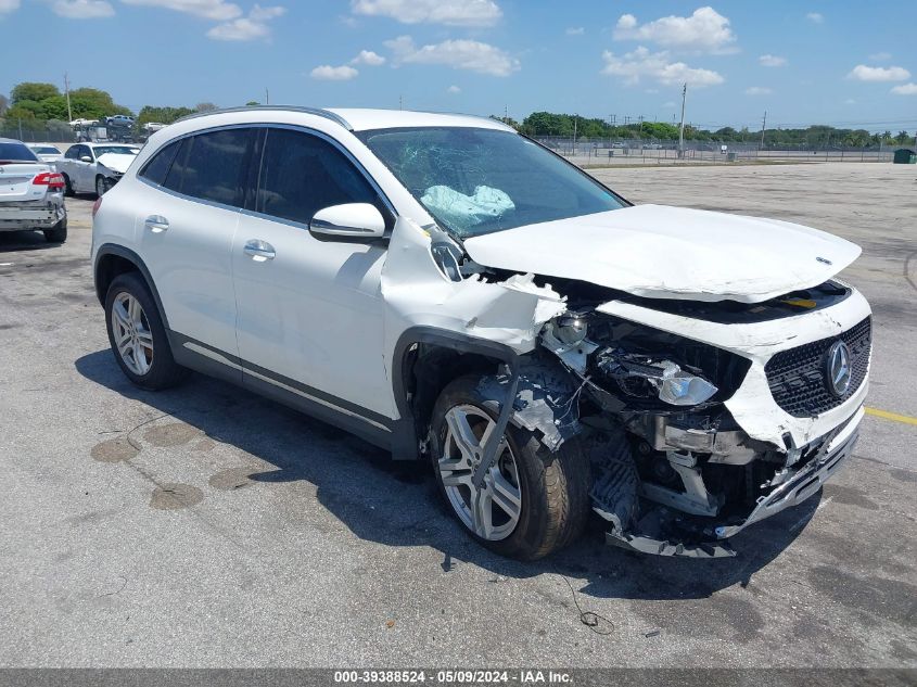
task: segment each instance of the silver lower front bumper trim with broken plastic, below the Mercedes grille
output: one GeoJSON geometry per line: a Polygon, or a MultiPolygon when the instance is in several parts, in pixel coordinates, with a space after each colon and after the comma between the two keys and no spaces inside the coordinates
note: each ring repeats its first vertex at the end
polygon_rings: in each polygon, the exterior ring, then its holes
{"type": "MultiPolygon", "coordinates": [[[[813,496],[829,480],[841,465],[853,454],[859,437],[859,423],[864,409],[823,437],[803,447],[802,454],[808,458],[799,468],[787,469],[784,481],[769,494],[760,497],[753,510],[741,521],[709,524],[703,527],[702,536],[690,542],[676,540],[674,537],[660,537],[644,534],[647,527],[642,521],[632,531],[612,530],[606,534],[608,544],[658,556],[686,556],[691,558],[726,558],[736,555],[735,549],[725,539],[749,525],[798,506],[813,496]],[[641,526],[644,524],[644,526],[641,526]]],[[[655,524],[655,523],[650,523],[655,524]]]]}

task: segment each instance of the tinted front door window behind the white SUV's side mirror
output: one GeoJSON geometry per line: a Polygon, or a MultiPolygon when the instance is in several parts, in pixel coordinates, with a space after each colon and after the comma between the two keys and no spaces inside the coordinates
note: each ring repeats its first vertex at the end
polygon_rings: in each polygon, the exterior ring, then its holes
{"type": "Polygon", "coordinates": [[[267,130],[256,212],[308,225],[321,208],[342,203],[380,206],[375,190],[334,145],[303,131],[267,130]]]}

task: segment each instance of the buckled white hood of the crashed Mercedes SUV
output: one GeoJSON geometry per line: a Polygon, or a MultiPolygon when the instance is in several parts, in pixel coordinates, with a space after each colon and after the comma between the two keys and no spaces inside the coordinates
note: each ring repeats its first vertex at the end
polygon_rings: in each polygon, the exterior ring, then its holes
{"type": "Polygon", "coordinates": [[[760,303],[814,287],[858,245],[776,219],[635,205],[464,241],[481,265],[651,298],[760,303]]]}

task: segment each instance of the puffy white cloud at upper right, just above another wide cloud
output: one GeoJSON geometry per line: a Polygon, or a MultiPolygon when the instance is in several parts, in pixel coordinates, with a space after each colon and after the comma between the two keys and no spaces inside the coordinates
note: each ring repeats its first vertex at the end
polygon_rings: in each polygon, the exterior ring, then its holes
{"type": "Polygon", "coordinates": [[[735,52],[736,35],[729,20],[713,8],[699,8],[691,16],[663,16],[639,25],[633,14],[623,14],[614,27],[615,40],[645,40],[665,48],[702,52],[735,52]]]}

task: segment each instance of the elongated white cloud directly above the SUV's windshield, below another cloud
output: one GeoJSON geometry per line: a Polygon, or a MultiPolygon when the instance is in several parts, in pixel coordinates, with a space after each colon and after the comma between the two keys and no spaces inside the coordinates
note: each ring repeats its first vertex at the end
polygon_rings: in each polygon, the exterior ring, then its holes
{"type": "Polygon", "coordinates": [[[491,76],[509,76],[519,71],[519,60],[495,46],[476,40],[444,40],[418,48],[410,36],[386,40],[395,64],[442,64],[454,69],[469,69],[491,76]]]}

